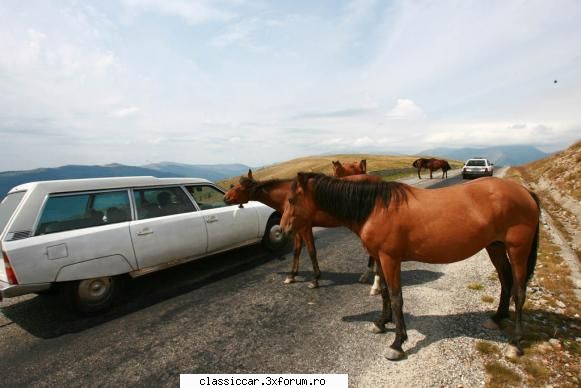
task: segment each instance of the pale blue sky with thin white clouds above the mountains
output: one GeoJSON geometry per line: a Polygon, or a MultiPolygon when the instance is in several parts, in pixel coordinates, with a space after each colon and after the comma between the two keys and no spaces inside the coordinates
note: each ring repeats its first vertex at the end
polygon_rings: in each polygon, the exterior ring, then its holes
{"type": "Polygon", "coordinates": [[[0,171],[564,149],[579,20],[577,0],[2,0],[0,171]]]}

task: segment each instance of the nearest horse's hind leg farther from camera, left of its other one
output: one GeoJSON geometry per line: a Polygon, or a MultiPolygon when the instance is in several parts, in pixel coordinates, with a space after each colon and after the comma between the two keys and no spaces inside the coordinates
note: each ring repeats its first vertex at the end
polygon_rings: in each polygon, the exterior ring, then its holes
{"type": "Polygon", "coordinates": [[[510,293],[512,290],[512,270],[510,262],[506,256],[506,246],[499,241],[494,242],[486,247],[488,256],[492,260],[494,268],[498,273],[498,280],[500,280],[500,302],[496,314],[492,316],[492,322],[487,322],[485,325],[489,328],[497,328],[504,318],[508,318],[508,307],[510,304],[510,293]]]}

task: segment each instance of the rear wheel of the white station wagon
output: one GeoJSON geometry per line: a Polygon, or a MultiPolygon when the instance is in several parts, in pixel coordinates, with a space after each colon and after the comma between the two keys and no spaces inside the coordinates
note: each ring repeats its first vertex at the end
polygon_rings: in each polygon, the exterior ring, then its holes
{"type": "Polygon", "coordinates": [[[74,312],[91,315],[109,309],[124,288],[122,276],[104,276],[63,283],[61,297],[74,312]]]}

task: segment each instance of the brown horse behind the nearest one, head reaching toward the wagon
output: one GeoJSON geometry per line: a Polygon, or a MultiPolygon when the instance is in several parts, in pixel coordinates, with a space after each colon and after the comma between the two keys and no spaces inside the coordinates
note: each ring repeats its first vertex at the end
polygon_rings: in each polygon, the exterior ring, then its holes
{"type": "MultiPolygon", "coordinates": [[[[353,175],[343,178],[350,181],[379,182],[380,177],[374,175],[353,175]]],[[[224,195],[224,201],[228,204],[243,204],[248,201],[258,201],[276,209],[280,214],[284,213],[284,207],[291,193],[291,184],[293,179],[270,179],[266,181],[257,181],[252,175],[252,170],[248,170],[248,176],[240,177],[238,184],[233,185],[224,195]]],[[[313,237],[313,226],[322,226],[327,228],[341,226],[333,217],[319,214],[312,220],[312,225],[304,226],[294,236],[293,246],[293,264],[292,269],[285,279],[285,284],[295,282],[295,276],[299,272],[299,257],[303,244],[307,246],[309,257],[313,264],[314,279],[309,284],[309,288],[319,286],[321,271],[317,260],[317,250],[315,248],[315,239],[313,237]]]]}

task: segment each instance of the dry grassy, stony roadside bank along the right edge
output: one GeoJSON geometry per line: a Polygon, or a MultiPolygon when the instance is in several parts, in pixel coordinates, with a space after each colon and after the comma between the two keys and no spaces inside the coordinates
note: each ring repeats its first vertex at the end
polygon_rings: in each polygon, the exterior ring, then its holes
{"type": "MultiPolygon", "coordinates": [[[[563,216],[563,208],[555,201],[552,191],[558,190],[560,195],[567,197],[579,194],[580,160],[570,158],[579,158],[580,150],[581,143],[577,143],[549,159],[512,168],[506,176],[537,192],[543,211],[555,220],[557,229],[569,243],[573,241],[570,225],[557,225],[557,220],[563,216]],[[566,159],[569,159],[569,169],[564,172],[559,166],[567,163],[566,159]],[[575,174],[570,173],[575,170],[575,174]],[[551,174],[560,175],[552,177],[551,174]],[[539,185],[543,179],[550,179],[552,183],[539,185]]],[[[478,342],[476,349],[485,360],[487,387],[581,386],[580,314],[581,302],[575,294],[571,269],[562,257],[562,247],[553,241],[551,226],[542,223],[537,267],[529,282],[525,303],[525,355],[513,358],[496,343],[478,342]]],[[[503,322],[502,329],[507,336],[513,330],[512,325],[512,320],[503,322]]]]}

